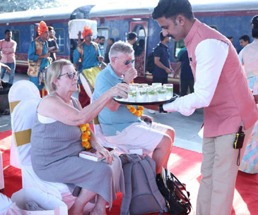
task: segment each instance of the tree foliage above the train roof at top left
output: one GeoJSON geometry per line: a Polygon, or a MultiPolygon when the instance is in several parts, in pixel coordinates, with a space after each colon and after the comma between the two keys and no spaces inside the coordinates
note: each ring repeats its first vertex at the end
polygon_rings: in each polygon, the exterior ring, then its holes
{"type": "Polygon", "coordinates": [[[0,0],[1,12],[28,11],[60,6],[56,0],[0,0]]]}

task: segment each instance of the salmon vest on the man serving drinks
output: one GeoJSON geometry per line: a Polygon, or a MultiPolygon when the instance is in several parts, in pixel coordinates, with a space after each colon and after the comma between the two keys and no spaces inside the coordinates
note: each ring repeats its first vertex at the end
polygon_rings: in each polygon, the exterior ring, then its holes
{"type": "Polygon", "coordinates": [[[204,137],[236,133],[241,122],[244,123],[245,129],[250,128],[257,121],[258,109],[238,54],[229,39],[199,20],[195,20],[187,37],[184,38],[194,79],[197,66],[194,51],[204,39],[219,39],[229,44],[228,57],[211,104],[204,108],[204,137]]]}

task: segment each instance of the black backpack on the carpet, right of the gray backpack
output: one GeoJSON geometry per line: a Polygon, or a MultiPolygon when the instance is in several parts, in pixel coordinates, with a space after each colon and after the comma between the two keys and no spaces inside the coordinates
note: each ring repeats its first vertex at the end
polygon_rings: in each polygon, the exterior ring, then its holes
{"type": "Polygon", "coordinates": [[[167,203],[169,214],[187,215],[191,212],[190,193],[173,173],[163,168],[160,178],[156,178],[156,180],[158,189],[167,203]]]}

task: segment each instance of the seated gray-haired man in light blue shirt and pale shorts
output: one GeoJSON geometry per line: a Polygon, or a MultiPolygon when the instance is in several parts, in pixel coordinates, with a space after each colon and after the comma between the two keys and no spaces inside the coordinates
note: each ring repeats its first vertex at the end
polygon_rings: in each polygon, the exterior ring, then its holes
{"type": "MultiPolygon", "coordinates": [[[[110,49],[110,64],[100,71],[95,80],[93,100],[98,99],[117,83],[129,84],[136,76],[134,49],[125,42],[115,42],[110,49]]],[[[156,173],[168,167],[168,159],[174,142],[175,131],[167,125],[154,123],[148,116],[135,116],[124,104],[113,99],[107,102],[98,114],[98,119],[105,139],[119,151],[129,153],[130,149],[143,149],[144,154],[153,152],[156,161],[156,173]],[[151,120],[146,123],[144,119],[151,120]]]]}

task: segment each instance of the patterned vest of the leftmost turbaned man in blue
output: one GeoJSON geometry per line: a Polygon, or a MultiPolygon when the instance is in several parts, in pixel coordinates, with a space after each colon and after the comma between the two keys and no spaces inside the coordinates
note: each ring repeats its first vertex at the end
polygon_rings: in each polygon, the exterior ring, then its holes
{"type": "MultiPolygon", "coordinates": [[[[40,41],[40,38],[35,39],[35,54],[40,56],[43,51],[43,43],[40,41]]],[[[48,49],[48,44],[47,44],[48,49]]],[[[27,74],[31,77],[37,77],[40,72],[40,63],[41,59],[37,59],[37,61],[31,61],[28,59],[28,72],[27,74]]]]}

